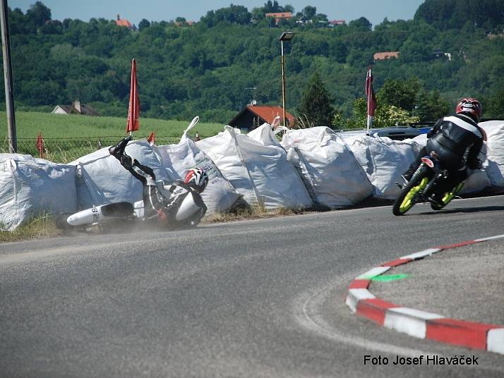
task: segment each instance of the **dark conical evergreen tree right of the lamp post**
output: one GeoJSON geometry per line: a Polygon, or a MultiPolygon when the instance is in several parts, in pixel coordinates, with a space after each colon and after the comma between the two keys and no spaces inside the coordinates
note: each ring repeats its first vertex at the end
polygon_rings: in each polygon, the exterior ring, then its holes
{"type": "Polygon", "coordinates": [[[318,73],[313,74],[298,108],[301,118],[306,117],[315,126],[330,126],[335,110],[331,97],[318,73]]]}

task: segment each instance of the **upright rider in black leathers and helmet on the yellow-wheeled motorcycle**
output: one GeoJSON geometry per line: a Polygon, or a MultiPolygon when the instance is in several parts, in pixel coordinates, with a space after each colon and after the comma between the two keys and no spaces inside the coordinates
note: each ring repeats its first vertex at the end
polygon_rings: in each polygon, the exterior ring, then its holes
{"type": "Polygon", "coordinates": [[[464,181],[468,176],[467,166],[470,169],[481,168],[478,154],[486,139],[484,130],[478,126],[481,112],[481,104],[477,99],[460,100],[455,115],[440,118],[436,122],[427,135],[426,147],[403,174],[404,180],[411,180],[420,159],[435,152],[442,166],[448,170],[448,178],[437,183],[435,193],[430,197],[431,202],[440,203],[444,193],[464,181]]]}

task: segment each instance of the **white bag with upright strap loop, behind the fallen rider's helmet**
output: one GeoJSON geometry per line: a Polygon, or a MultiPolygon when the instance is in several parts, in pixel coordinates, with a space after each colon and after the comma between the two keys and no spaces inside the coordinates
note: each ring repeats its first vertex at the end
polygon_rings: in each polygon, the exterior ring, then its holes
{"type": "Polygon", "coordinates": [[[191,130],[199,117],[195,117],[177,145],[159,146],[162,162],[165,167],[171,167],[181,179],[184,179],[188,169],[200,168],[208,175],[208,185],[201,193],[203,202],[208,207],[207,214],[225,212],[234,205],[241,196],[222,176],[215,163],[210,157],[188,138],[187,133],[191,130]]]}

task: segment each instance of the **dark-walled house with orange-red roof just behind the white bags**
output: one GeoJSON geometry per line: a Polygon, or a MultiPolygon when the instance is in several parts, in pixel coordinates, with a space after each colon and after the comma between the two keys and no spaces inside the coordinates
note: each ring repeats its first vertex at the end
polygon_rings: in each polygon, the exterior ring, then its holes
{"type": "MultiPolygon", "coordinates": [[[[282,106],[248,105],[239,114],[236,114],[228,124],[234,128],[251,131],[263,123],[271,125],[277,116],[280,116],[280,123],[283,124],[284,111],[282,106]]],[[[295,119],[292,114],[286,111],[285,118],[289,127],[294,126],[295,119]]]]}

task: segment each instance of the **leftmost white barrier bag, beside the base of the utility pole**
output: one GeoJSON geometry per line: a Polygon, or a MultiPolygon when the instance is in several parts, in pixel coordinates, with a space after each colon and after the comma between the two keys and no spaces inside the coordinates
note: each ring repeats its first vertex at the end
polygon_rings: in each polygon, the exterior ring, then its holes
{"type": "Polygon", "coordinates": [[[75,212],[75,167],[31,155],[0,154],[0,229],[40,215],[75,212]]]}

